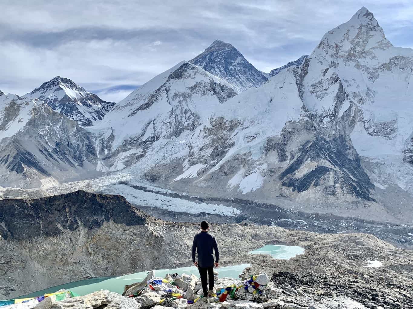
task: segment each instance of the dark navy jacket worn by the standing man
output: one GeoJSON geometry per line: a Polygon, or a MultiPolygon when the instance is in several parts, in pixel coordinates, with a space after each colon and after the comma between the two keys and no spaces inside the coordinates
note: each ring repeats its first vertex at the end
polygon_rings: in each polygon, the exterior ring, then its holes
{"type": "Polygon", "coordinates": [[[214,266],[214,251],[215,262],[219,260],[218,244],[216,243],[215,236],[208,232],[200,232],[194,237],[194,243],[192,243],[192,262],[195,263],[195,252],[198,251],[198,266],[207,268],[214,266]]]}

